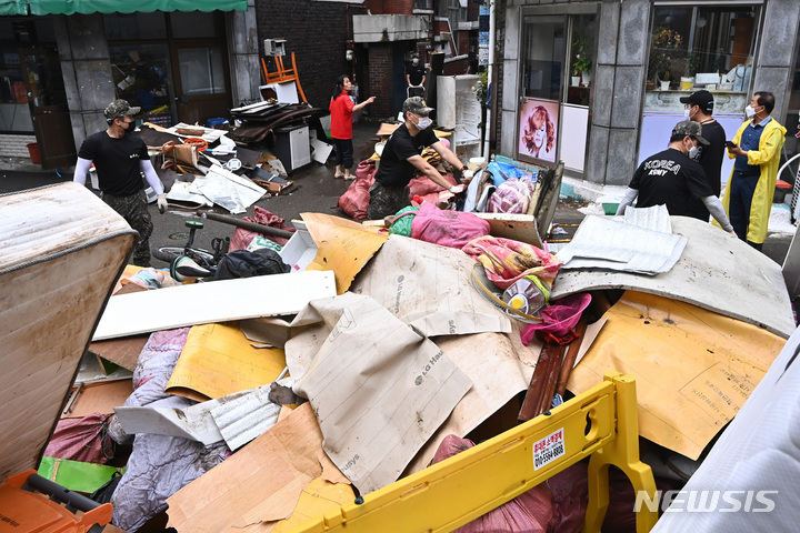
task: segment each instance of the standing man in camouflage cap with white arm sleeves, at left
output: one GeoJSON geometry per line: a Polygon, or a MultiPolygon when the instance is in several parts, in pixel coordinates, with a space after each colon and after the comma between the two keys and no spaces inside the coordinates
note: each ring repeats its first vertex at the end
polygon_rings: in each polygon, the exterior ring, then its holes
{"type": "Polygon", "coordinates": [[[124,100],[114,100],[106,108],[103,115],[108,129],[90,135],[81,144],[73,181],[84,184],[94,163],[102,200],[139,232],[133,264],[150,266],[152,220],[141,174],[158,194],[161,213],[167,209],[167,197],[150,162],[147,144],[138,135],[130,134],[136,129],[133,115],[140,110],[124,100]]]}

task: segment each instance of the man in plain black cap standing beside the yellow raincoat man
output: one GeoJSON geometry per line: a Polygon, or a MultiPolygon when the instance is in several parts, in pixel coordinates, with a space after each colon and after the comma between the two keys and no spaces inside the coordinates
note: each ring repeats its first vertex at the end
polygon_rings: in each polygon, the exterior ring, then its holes
{"type": "MultiPolygon", "coordinates": [[[[686,103],[683,117],[699,123],[702,127],[702,138],[709,141],[707,147],[698,147],[697,162],[706,171],[706,178],[714,197],[719,198],[726,132],[722,124],[711,117],[711,113],[713,113],[713,94],[704,90],[697,91],[689,97],[681,97],[680,101],[686,103]]],[[[698,209],[700,212],[706,210],[704,205],[698,205],[698,209]]],[[[708,220],[708,212],[706,213],[706,220],[708,220]]]]}

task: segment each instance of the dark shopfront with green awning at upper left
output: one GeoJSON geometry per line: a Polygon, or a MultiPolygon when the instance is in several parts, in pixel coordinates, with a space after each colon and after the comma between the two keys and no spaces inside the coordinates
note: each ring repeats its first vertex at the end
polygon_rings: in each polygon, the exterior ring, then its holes
{"type": "Polygon", "coordinates": [[[117,98],[160,125],[227,117],[258,94],[259,42],[248,0],[137,4],[18,1],[0,11],[0,158],[74,164],[117,98]],[[36,152],[34,152],[36,151],[36,152]]]}

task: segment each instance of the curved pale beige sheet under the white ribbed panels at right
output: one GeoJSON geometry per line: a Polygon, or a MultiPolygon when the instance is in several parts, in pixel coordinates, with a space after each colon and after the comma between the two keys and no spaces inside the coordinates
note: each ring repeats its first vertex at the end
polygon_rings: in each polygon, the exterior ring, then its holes
{"type": "Polygon", "coordinates": [[[672,231],[689,242],[669,272],[641,275],[561,269],[550,299],[599,289],[633,290],[700,305],[789,338],[794,315],[774,261],[707,222],[688,217],[670,217],[670,222],[672,231]]]}

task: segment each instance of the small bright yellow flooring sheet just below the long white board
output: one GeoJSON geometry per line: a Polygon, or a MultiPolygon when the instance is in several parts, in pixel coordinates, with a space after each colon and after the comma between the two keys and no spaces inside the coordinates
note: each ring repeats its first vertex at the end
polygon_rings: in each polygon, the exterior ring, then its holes
{"type": "MultiPolygon", "coordinates": [[[[214,282],[218,283],[218,282],[214,282]]],[[[196,325],[167,383],[169,394],[206,400],[272,383],[286,368],[283,350],[250,344],[237,323],[196,325]]]]}

